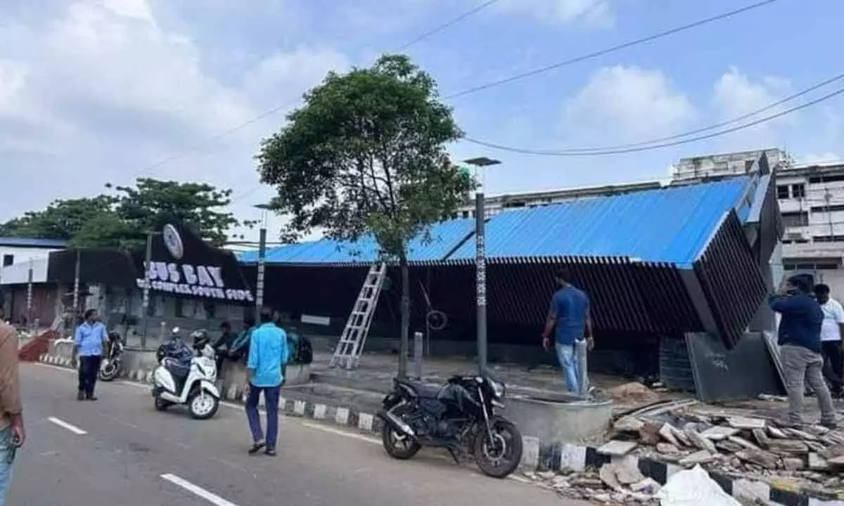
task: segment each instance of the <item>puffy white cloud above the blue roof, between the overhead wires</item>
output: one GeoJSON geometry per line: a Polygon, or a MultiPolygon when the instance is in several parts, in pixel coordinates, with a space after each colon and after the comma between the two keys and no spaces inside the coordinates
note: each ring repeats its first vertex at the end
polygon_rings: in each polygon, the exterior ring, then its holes
{"type": "Polygon", "coordinates": [[[563,130],[571,143],[634,143],[676,133],[693,116],[694,105],[661,71],[605,67],[565,103],[563,130]]]}

